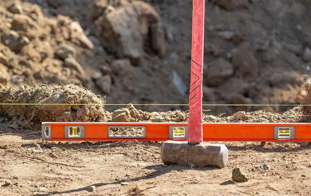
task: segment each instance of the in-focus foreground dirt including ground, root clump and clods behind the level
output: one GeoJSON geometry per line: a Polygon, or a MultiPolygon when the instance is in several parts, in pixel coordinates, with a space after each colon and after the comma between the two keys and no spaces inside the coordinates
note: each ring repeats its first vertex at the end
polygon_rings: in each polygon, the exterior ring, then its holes
{"type": "MultiPolygon", "coordinates": [[[[310,104],[309,80],[304,104],[310,104]]],[[[311,145],[307,142],[216,142],[229,150],[225,168],[165,165],[160,158],[162,142],[42,142],[39,114],[49,120],[113,122],[187,122],[188,112],[145,112],[132,104],[112,113],[101,105],[104,99],[74,85],[3,89],[1,96],[23,94],[28,103],[55,98],[59,103],[100,104],[6,106],[0,113],[1,195],[309,195],[311,194],[311,145]],[[70,88],[69,88],[70,87],[70,88]],[[63,90],[63,91],[62,91],[63,90]],[[72,101],[70,92],[80,92],[72,101]],[[28,92],[28,93],[26,93],[28,92]],[[49,92],[49,93],[47,93],[49,92]],[[34,96],[37,95],[37,96],[34,96]],[[44,97],[42,97],[44,95],[44,97]],[[57,95],[57,96],[56,96],[57,95]],[[70,102],[70,101],[71,102],[70,102]],[[76,112],[73,107],[76,106],[76,112]],[[90,113],[93,109],[93,113],[90,113]],[[26,112],[24,112],[26,110],[26,112]],[[80,113],[77,115],[77,113],[80,113]],[[33,115],[33,113],[38,115],[33,115]],[[63,115],[66,114],[66,115],[63,115]],[[64,118],[65,117],[65,118],[64,118]],[[268,170],[256,169],[267,164],[268,170]],[[240,176],[232,177],[238,171],[240,176]],[[237,169],[238,168],[238,169],[237,169]],[[241,178],[241,175],[243,178],[241,178]],[[246,182],[237,182],[247,179],[246,182]],[[235,181],[233,181],[235,180],[235,181]],[[95,186],[91,187],[91,186],[95,186]]],[[[6,98],[7,99],[7,98],[6,98]]],[[[3,99],[2,99],[3,101],[3,99]]],[[[11,99],[7,102],[16,103],[11,99]]],[[[203,115],[204,122],[308,122],[310,109],[295,107],[283,114],[263,110],[240,111],[231,116],[203,115]]],[[[230,131],[230,130],[228,130],[230,131]]],[[[138,134],[131,130],[114,134],[138,134]],[[129,131],[129,132],[127,132],[129,131]]]]}

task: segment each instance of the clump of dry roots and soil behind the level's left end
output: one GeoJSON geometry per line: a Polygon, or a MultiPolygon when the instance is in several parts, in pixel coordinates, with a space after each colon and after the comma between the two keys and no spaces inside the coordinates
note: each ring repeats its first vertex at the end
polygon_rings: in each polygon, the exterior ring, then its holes
{"type": "Polygon", "coordinates": [[[109,113],[104,110],[105,98],[77,85],[6,87],[0,90],[0,103],[55,104],[55,105],[0,105],[0,114],[23,115],[32,121],[90,122],[107,121],[109,113]],[[69,105],[58,105],[69,104],[69,105]],[[98,105],[74,105],[98,104],[98,105]]]}

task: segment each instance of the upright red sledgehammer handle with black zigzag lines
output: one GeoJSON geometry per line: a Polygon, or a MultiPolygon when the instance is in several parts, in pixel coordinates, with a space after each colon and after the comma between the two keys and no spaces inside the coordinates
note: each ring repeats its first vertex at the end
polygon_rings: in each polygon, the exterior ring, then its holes
{"type": "Polygon", "coordinates": [[[202,77],[204,44],[205,0],[193,0],[192,11],[192,51],[189,95],[189,123],[187,141],[203,142],[202,129],[202,77]]]}

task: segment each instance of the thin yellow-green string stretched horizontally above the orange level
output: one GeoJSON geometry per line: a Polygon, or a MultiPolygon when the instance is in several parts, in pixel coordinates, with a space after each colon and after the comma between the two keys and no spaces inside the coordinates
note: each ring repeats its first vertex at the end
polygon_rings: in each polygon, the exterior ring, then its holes
{"type": "MultiPolygon", "coordinates": [[[[125,106],[120,103],[0,103],[0,105],[79,105],[79,106],[125,106]]],[[[189,104],[132,104],[133,106],[189,106],[189,104]]],[[[311,106],[311,104],[202,104],[202,106],[311,106]]]]}

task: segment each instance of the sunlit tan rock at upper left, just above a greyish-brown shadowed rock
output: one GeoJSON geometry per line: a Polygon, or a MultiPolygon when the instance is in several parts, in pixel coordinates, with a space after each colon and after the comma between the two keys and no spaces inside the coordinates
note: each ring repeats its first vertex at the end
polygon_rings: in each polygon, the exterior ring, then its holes
{"type": "Polygon", "coordinates": [[[29,16],[14,14],[11,24],[12,30],[25,34],[30,40],[40,35],[39,25],[29,16]]]}

